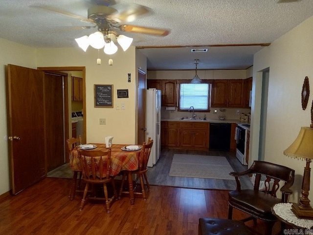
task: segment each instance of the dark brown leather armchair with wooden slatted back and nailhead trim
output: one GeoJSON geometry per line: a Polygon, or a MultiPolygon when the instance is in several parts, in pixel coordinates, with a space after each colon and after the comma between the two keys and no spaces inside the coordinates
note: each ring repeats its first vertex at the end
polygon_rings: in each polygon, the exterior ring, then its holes
{"type": "Polygon", "coordinates": [[[276,216],[271,213],[271,208],[276,203],[287,202],[288,196],[292,194],[290,187],[294,181],[294,170],[266,161],[254,161],[245,172],[231,172],[229,175],[235,176],[237,189],[228,193],[228,219],[232,219],[233,208],[236,208],[251,215],[243,219],[244,222],[253,219],[256,223],[257,218],[264,220],[266,225],[265,235],[270,235],[272,227],[277,221],[276,216]],[[254,189],[242,190],[239,176],[252,174],[256,174],[254,189]],[[259,190],[261,176],[266,178],[264,180],[266,186],[264,191],[259,190]],[[281,188],[279,185],[280,180],[285,182],[281,188]],[[281,199],[276,197],[279,188],[282,193],[281,199]]]}

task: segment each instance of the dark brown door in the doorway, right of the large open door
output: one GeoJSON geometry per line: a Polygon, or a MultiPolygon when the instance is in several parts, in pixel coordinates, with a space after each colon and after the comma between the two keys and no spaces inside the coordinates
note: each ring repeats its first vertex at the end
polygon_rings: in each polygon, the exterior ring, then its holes
{"type": "Polygon", "coordinates": [[[45,111],[49,172],[65,163],[63,76],[45,74],[45,111]]]}

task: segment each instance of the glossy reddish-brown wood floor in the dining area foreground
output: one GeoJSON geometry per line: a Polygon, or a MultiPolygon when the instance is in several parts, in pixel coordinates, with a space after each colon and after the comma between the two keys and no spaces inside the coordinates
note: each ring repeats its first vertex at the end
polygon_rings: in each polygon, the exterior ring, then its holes
{"type": "MultiPolygon", "coordinates": [[[[7,235],[197,235],[201,217],[227,217],[225,190],[199,190],[151,186],[146,201],[128,197],[113,202],[106,213],[103,203],[87,201],[79,211],[81,195],[69,200],[71,180],[47,177],[16,196],[0,201],[0,234],[7,235]]],[[[234,219],[244,218],[234,210],[234,219]]],[[[264,223],[246,223],[263,233],[264,223]]],[[[280,229],[275,224],[274,231],[280,229]]]]}

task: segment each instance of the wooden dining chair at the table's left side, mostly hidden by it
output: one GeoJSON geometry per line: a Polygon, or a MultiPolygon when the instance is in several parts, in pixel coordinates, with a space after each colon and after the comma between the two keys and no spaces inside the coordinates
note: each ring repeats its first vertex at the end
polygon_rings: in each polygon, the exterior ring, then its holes
{"type": "MultiPolygon", "coordinates": [[[[82,144],[82,136],[79,136],[78,138],[69,138],[67,139],[67,151],[68,151],[68,156],[70,157],[72,151],[76,146],[82,144]]],[[[75,196],[75,192],[83,192],[80,189],[80,183],[81,183],[81,178],[82,178],[82,172],[81,171],[73,171],[73,180],[71,187],[69,189],[69,199],[73,200],[75,196]],[[76,188],[76,183],[77,183],[77,175],[79,173],[79,180],[76,188]]]]}

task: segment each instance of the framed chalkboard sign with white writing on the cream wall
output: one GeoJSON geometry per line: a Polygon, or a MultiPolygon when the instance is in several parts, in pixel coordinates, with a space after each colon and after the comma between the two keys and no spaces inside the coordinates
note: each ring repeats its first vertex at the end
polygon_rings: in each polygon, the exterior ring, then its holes
{"type": "Polygon", "coordinates": [[[113,85],[94,85],[94,107],[113,108],[113,85]]]}

